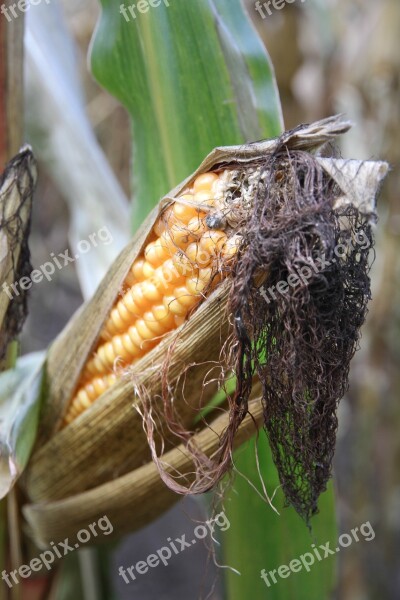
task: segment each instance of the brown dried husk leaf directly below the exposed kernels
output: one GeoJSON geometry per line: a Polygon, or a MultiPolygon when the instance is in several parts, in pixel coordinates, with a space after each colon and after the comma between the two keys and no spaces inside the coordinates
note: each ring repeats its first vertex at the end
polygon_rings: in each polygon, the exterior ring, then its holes
{"type": "MultiPolygon", "coordinates": [[[[65,498],[136,469],[150,459],[142,419],[133,408],[134,403],[140,402],[135,389],[145,388],[154,400],[160,396],[160,371],[174,340],[179,341],[168,369],[171,381],[194,357],[198,363],[208,363],[212,357],[217,360],[228,331],[224,314],[226,298],[227,286],[224,285],[182,330],[166,336],[138,361],[133,376],[119,380],[76,421],[38,449],[26,473],[27,489],[33,501],[65,498]]],[[[209,364],[193,367],[186,380],[185,396],[196,399],[196,409],[205,371],[209,368],[209,364]]],[[[213,391],[204,390],[202,403],[215,392],[214,386],[210,388],[213,391]]],[[[184,401],[179,409],[186,425],[198,412],[184,401]]]]}

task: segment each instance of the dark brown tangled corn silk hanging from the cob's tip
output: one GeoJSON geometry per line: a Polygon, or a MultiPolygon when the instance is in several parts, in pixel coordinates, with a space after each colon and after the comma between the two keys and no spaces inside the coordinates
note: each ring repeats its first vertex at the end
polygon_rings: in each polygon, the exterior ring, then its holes
{"type": "Polygon", "coordinates": [[[307,521],[331,475],[336,410],[370,298],[370,220],[336,202],[339,194],[313,155],[271,155],[230,296],[238,340],[231,427],[257,374],[285,497],[307,521]]]}

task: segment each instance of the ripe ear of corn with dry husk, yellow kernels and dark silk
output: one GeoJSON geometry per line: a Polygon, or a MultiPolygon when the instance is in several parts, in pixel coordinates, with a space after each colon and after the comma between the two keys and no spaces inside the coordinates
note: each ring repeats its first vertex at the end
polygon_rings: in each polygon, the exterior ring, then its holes
{"type": "MultiPolygon", "coordinates": [[[[48,503],[60,511],[75,495],[118,486],[150,458],[174,492],[212,488],[231,466],[255,382],[286,498],[306,520],[316,511],[370,296],[371,225],[387,172],[385,163],[318,156],[349,127],[332,117],[215,149],[161,200],[53,344],[41,443],[25,481],[35,503],[25,512],[42,542],[48,503]],[[161,290],[168,261],[173,285],[161,290]],[[160,302],[167,314],[158,318],[160,302]],[[227,426],[210,454],[193,423],[233,375],[227,426]],[[190,473],[166,468],[179,444],[190,473]]],[[[117,506],[113,496],[109,510],[117,506]]],[[[130,515],[129,527],[140,524],[130,515]]]]}

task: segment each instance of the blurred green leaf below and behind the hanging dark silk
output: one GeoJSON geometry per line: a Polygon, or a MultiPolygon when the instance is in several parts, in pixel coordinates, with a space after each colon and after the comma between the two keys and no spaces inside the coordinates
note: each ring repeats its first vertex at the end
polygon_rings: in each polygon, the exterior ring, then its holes
{"type": "MultiPolygon", "coordinates": [[[[237,475],[233,489],[227,495],[224,507],[231,527],[224,534],[224,564],[239,571],[240,575],[228,570],[226,584],[229,600],[243,598],[268,598],[268,600],[321,600],[329,598],[335,582],[335,555],[322,560],[314,554],[312,544],[330,543],[335,549],[337,526],[335,519],[332,485],[322,494],[319,501],[320,513],[311,520],[311,532],[304,521],[291,507],[284,506],[279,488],[278,473],[272,461],[266,434],[260,432],[257,442],[260,471],[266,482],[267,492],[273,497],[273,505],[279,515],[258,495],[246,477],[263,495],[256,467],[256,444],[251,442],[235,453],[235,467],[243,476],[237,475]],[[279,488],[279,489],[277,489],[279,488]],[[310,553],[304,561],[312,562],[308,571],[300,557],[310,553]],[[277,574],[282,565],[300,559],[300,570],[292,572],[282,569],[284,578],[277,574]],[[261,578],[261,570],[267,572],[267,583],[261,578]],[[268,575],[274,571],[273,576],[268,575]],[[276,579],[274,583],[273,577],[276,579]],[[269,585],[268,585],[269,584],[269,585]]],[[[297,563],[292,563],[299,569],[297,563]]]]}

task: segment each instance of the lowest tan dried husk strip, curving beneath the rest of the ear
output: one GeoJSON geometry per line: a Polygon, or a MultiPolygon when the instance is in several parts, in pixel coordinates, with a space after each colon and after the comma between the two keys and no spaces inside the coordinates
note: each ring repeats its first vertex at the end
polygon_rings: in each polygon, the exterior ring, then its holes
{"type": "MultiPolygon", "coordinates": [[[[254,390],[253,396],[257,393],[260,395],[259,388],[254,390]]],[[[212,421],[209,428],[194,436],[194,441],[206,454],[211,455],[217,450],[228,419],[225,412],[212,421]]],[[[235,447],[253,436],[261,423],[262,406],[260,399],[255,399],[249,404],[249,415],[238,431],[235,447]]],[[[192,456],[183,444],[166,452],[163,462],[167,472],[178,469],[190,473],[194,468],[192,456]]],[[[27,505],[23,512],[31,529],[30,535],[39,546],[45,547],[52,541],[73,537],[103,515],[108,516],[114,528],[110,538],[135,531],[157,518],[178,499],[179,496],[160,478],[156,465],[149,462],[122,477],[65,500],[27,505]]]]}

